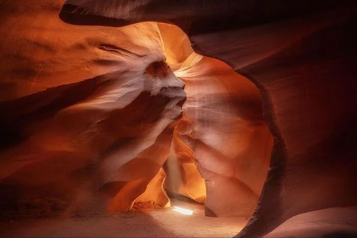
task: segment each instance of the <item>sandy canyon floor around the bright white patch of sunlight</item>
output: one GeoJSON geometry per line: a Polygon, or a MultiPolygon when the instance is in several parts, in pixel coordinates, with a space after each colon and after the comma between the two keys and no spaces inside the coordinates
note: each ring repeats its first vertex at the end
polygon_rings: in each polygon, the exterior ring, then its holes
{"type": "Polygon", "coordinates": [[[172,209],[90,217],[36,219],[0,223],[1,237],[233,237],[246,218],[206,217],[197,203],[171,200],[194,210],[192,216],[172,209]]]}

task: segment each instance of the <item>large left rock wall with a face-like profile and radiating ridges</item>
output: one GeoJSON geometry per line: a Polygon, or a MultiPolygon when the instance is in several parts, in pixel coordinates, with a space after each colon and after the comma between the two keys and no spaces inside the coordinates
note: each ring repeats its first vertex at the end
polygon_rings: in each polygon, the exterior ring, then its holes
{"type": "Polygon", "coordinates": [[[168,205],[161,167],[186,94],[157,24],[76,27],[62,3],[1,3],[2,209],[168,205]]]}

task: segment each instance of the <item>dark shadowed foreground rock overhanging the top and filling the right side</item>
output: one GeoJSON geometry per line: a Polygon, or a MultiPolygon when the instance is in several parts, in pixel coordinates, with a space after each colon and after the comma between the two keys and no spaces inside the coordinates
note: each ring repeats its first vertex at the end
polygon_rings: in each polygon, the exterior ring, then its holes
{"type": "Polygon", "coordinates": [[[251,237],[298,214],[356,205],[355,13],[353,1],[335,0],[68,0],[61,18],[115,27],[171,22],[198,54],[258,86],[274,146],[256,213],[239,234],[251,237]]]}

